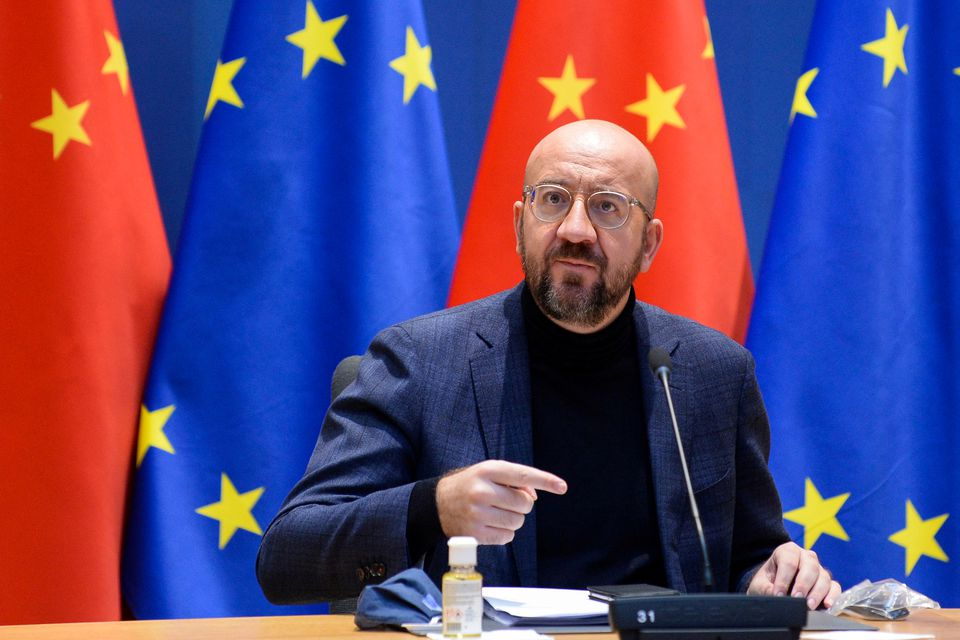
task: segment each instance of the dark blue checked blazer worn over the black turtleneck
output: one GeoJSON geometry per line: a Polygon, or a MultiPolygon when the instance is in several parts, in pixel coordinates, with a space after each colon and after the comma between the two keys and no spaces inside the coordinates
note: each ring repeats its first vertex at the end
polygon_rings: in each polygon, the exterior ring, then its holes
{"type": "MultiPolygon", "coordinates": [[[[407,549],[414,482],[485,459],[533,464],[530,373],[521,286],[390,327],[330,407],[300,482],[270,524],[257,575],[273,602],[357,595],[423,563],[439,581],[446,542],[407,549]]],[[[671,394],[720,590],[745,590],[789,538],[767,469],[770,434],[749,352],[657,307],[634,309],[644,414],[668,586],[697,591],[702,560],[651,347],[673,360],[671,394]]],[[[638,460],[637,464],[647,464],[638,460]]],[[[599,469],[611,483],[630,469],[599,469]]],[[[598,527],[617,526],[617,514],[598,527]]],[[[486,585],[537,586],[536,510],[508,545],[481,546],[486,585]]]]}

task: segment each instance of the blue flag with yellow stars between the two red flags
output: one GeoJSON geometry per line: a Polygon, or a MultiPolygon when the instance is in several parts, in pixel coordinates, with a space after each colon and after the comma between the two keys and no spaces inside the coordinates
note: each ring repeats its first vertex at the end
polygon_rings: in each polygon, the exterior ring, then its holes
{"type": "Polygon", "coordinates": [[[458,238],[419,0],[238,0],[141,410],[137,617],[305,611],[261,594],[261,532],[337,362],[444,306],[458,238]]]}

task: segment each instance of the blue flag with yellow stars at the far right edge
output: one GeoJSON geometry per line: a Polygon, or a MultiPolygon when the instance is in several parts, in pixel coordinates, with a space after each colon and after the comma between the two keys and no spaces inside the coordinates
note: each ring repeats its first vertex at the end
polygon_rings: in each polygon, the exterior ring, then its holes
{"type": "Polygon", "coordinates": [[[960,5],[818,3],[748,346],[784,518],[960,606],[960,5]]]}

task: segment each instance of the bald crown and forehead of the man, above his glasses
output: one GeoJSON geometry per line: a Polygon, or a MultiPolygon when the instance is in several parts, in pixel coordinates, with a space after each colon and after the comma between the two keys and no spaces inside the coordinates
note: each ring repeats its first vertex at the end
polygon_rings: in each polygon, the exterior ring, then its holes
{"type": "Polygon", "coordinates": [[[644,144],[623,127],[604,120],[577,120],[554,129],[530,153],[524,183],[543,182],[545,167],[558,162],[573,173],[600,170],[613,176],[653,215],[660,184],[657,164],[644,144]]]}

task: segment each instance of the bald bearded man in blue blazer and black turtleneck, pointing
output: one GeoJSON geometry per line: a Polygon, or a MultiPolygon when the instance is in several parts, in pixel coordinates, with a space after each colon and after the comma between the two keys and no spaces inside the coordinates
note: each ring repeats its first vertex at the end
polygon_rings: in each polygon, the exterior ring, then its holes
{"type": "Polygon", "coordinates": [[[717,587],[832,603],[839,585],[783,529],[749,353],[635,301],[663,239],[657,187],[649,151],[611,123],[537,145],[513,210],[525,283],[374,339],[264,535],[268,598],[354,596],[420,562],[439,580],[454,535],[484,545],[488,585],[702,589],[645,364],[661,347],[717,587]]]}

